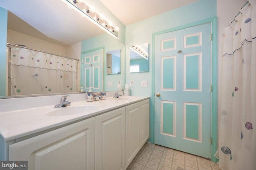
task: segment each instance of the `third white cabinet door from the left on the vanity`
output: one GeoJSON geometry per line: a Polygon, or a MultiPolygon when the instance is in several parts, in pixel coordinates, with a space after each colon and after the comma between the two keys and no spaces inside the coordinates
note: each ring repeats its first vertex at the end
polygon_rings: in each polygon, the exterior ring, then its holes
{"type": "Polygon", "coordinates": [[[140,150],[140,102],[125,107],[125,168],[140,150]]]}

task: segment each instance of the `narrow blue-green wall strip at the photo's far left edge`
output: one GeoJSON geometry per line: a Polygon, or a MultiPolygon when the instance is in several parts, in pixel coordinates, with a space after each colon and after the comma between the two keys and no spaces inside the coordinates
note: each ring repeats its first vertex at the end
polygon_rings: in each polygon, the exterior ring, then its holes
{"type": "MultiPolygon", "coordinates": [[[[0,37],[7,37],[7,10],[0,7],[0,37]]],[[[6,96],[6,38],[0,38],[0,96],[6,96]]]]}

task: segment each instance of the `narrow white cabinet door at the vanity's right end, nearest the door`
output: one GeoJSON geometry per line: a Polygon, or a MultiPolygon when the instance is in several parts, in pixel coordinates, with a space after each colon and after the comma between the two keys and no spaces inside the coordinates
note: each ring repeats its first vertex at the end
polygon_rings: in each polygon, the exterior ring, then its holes
{"type": "Polygon", "coordinates": [[[140,148],[149,138],[149,99],[140,102],[140,148]]]}

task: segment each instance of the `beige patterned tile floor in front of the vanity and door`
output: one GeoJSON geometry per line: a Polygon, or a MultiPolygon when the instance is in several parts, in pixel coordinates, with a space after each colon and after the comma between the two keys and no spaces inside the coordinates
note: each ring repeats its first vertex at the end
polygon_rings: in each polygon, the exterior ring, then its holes
{"type": "Polygon", "coordinates": [[[145,143],[126,170],[220,170],[208,159],[178,150],[145,143]]]}

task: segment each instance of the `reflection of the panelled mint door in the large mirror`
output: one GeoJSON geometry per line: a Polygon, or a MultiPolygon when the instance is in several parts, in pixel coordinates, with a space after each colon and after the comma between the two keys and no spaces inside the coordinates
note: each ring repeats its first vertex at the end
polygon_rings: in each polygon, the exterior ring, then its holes
{"type": "Polygon", "coordinates": [[[84,91],[103,90],[103,49],[82,53],[81,86],[84,91]]]}

